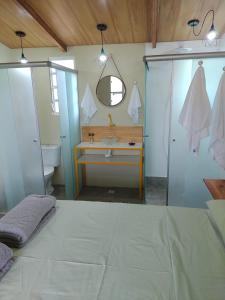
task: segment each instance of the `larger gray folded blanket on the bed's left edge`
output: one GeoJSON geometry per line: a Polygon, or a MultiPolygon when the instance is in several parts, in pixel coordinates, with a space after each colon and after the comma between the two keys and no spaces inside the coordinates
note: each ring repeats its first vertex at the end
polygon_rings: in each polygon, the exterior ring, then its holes
{"type": "Polygon", "coordinates": [[[21,248],[55,212],[55,197],[30,195],[0,219],[0,242],[21,248]]]}

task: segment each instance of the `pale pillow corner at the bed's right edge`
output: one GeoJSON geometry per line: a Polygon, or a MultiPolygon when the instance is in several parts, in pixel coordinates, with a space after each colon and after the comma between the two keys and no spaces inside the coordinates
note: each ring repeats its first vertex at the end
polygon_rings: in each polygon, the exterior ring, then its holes
{"type": "Polygon", "coordinates": [[[225,243],[225,199],[210,200],[207,206],[225,243]]]}

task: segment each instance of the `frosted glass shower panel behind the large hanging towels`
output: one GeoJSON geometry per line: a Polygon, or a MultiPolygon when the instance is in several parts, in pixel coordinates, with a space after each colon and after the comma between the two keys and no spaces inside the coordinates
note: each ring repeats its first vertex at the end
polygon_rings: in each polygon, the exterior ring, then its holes
{"type": "MultiPolygon", "coordinates": [[[[198,156],[189,152],[186,131],[178,122],[187,90],[198,67],[198,61],[174,61],[173,65],[168,204],[205,207],[205,202],[210,200],[212,196],[203,179],[225,178],[225,171],[217,165],[208,151],[209,137],[202,140],[198,156]]],[[[224,58],[203,60],[211,106],[224,65],[224,58]]]]}

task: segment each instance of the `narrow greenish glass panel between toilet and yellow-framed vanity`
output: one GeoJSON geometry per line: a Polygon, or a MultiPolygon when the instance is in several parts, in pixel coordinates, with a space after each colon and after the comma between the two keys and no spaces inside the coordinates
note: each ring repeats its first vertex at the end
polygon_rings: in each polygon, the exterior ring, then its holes
{"type": "Polygon", "coordinates": [[[73,148],[80,142],[77,75],[72,72],[57,70],[56,76],[66,199],[74,199],[75,176],[73,148]]]}

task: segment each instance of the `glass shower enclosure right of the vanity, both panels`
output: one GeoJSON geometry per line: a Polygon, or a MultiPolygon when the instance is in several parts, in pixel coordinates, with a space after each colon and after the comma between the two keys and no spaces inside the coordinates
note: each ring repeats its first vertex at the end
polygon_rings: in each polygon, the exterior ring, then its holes
{"type": "Polygon", "coordinates": [[[212,196],[203,179],[224,179],[225,171],[209,152],[209,137],[202,139],[199,155],[188,150],[186,130],[178,119],[198,61],[203,61],[206,88],[213,105],[225,66],[225,58],[171,59],[148,62],[146,70],[145,190],[146,203],[161,204],[154,198],[148,180],[168,177],[167,204],[205,207],[212,196]]]}

